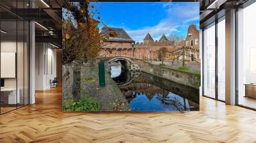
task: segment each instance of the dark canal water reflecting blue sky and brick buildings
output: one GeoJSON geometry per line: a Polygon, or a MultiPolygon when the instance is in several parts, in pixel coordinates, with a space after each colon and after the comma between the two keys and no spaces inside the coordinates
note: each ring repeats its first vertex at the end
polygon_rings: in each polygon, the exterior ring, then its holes
{"type": "Polygon", "coordinates": [[[199,110],[199,90],[144,72],[122,70],[111,65],[111,77],[132,111],[199,110]]]}

